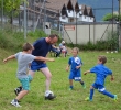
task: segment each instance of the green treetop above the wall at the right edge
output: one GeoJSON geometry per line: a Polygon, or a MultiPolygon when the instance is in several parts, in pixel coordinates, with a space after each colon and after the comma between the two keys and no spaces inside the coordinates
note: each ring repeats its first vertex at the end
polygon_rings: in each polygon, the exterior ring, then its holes
{"type": "Polygon", "coordinates": [[[102,20],[103,21],[112,21],[112,20],[121,21],[121,15],[116,14],[116,13],[113,13],[113,15],[112,15],[112,13],[108,13],[102,18],[102,20]]]}

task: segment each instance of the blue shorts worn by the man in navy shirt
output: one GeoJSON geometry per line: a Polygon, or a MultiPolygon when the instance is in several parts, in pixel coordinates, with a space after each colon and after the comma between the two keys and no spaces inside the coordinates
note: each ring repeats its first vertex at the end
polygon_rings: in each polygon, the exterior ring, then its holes
{"type": "Polygon", "coordinates": [[[32,62],[31,64],[31,70],[33,72],[40,70],[40,68],[44,68],[44,67],[47,67],[45,63],[38,64],[36,62],[32,62]]]}

